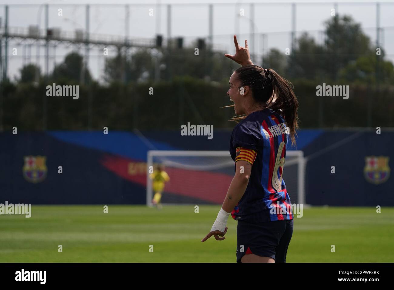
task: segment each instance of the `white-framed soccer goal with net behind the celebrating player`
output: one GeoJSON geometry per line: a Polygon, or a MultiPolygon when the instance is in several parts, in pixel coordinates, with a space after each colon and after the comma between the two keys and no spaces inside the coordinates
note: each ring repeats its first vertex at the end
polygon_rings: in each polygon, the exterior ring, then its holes
{"type": "MultiPolygon", "coordinates": [[[[152,206],[154,190],[150,173],[158,165],[170,180],[165,183],[163,204],[221,204],[234,177],[229,151],[148,151],[147,199],[152,206]]],[[[305,203],[303,151],[286,151],[283,179],[292,203],[305,203]]]]}

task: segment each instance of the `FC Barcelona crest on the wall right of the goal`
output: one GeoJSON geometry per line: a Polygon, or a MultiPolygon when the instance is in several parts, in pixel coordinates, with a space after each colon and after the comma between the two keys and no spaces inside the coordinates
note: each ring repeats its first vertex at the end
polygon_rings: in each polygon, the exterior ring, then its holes
{"type": "Polygon", "coordinates": [[[364,177],[368,182],[381,184],[390,176],[388,156],[366,156],[364,177]]]}

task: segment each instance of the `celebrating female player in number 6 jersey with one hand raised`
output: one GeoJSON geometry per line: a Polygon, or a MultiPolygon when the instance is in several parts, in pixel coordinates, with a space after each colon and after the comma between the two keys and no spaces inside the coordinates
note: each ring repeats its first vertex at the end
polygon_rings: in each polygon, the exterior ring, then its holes
{"type": "Polygon", "coordinates": [[[298,102],[291,84],[273,69],[253,65],[248,50],[238,45],[225,54],[242,67],[230,77],[227,95],[240,121],[232,131],[230,154],[235,162],[222,208],[210,236],[224,240],[227,219],[237,225],[237,262],[286,262],[293,233],[290,197],[282,179],[287,141],[295,143],[298,102]]]}

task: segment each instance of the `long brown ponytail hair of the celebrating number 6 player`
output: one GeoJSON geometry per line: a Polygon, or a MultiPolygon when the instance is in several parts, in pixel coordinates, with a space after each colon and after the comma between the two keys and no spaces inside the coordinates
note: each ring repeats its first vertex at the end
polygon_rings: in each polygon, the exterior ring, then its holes
{"type": "MultiPolygon", "coordinates": [[[[293,91],[293,85],[277,74],[273,69],[263,69],[258,65],[244,65],[235,71],[236,78],[241,86],[251,89],[253,99],[267,108],[277,110],[290,129],[292,144],[296,143],[296,130],[298,128],[298,101],[293,91]]],[[[234,105],[225,106],[233,107],[234,105]]],[[[245,119],[245,115],[232,117],[229,121],[245,119]]]]}

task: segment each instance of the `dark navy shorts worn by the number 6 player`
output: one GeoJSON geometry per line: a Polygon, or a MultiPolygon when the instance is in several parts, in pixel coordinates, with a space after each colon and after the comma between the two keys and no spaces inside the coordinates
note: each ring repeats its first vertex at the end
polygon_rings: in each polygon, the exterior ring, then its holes
{"type": "Polygon", "coordinates": [[[293,221],[294,219],[283,219],[264,223],[248,223],[239,220],[237,225],[237,263],[241,263],[241,258],[245,254],[271,257],[276,263],[286,263],[287,248],[293,234],[293,221]]]}

